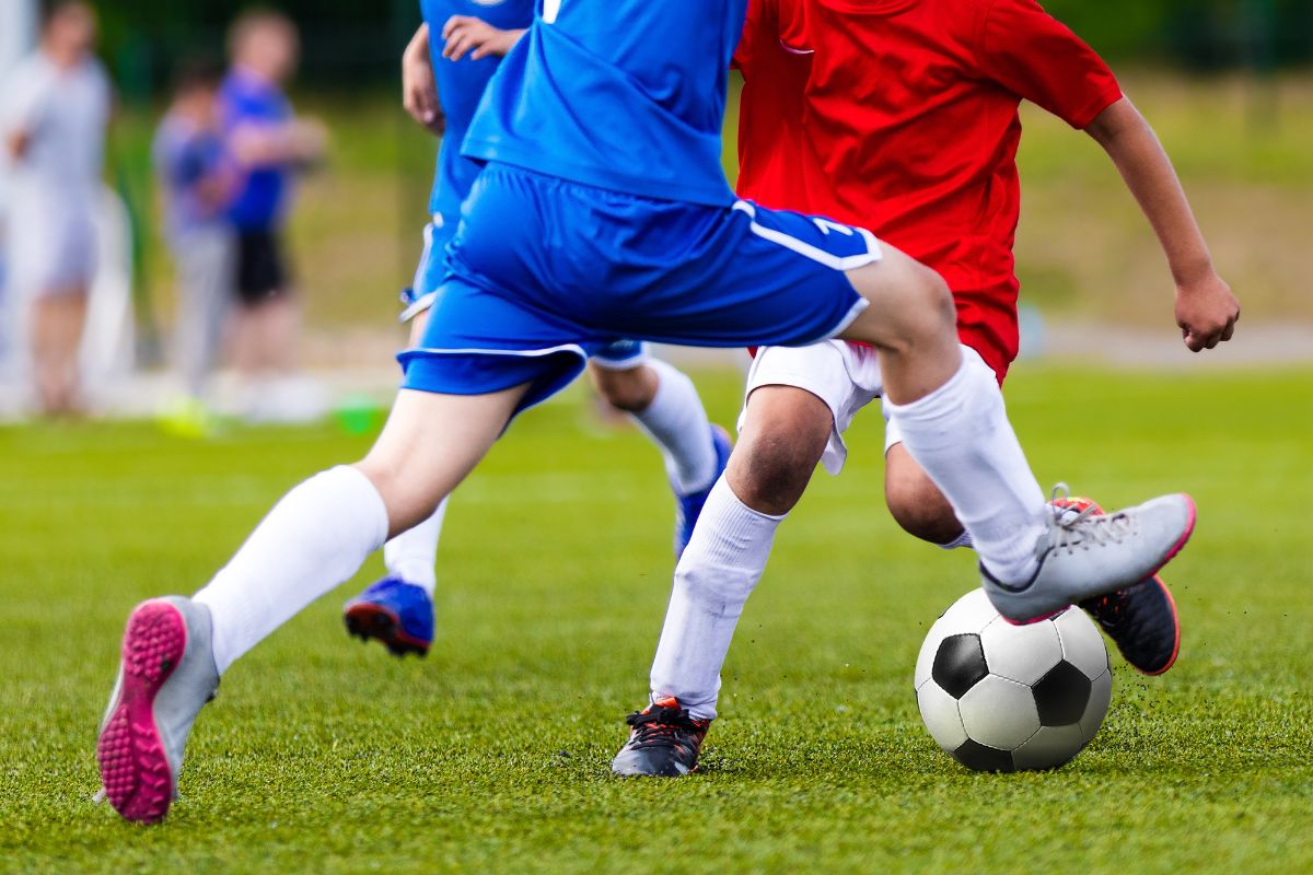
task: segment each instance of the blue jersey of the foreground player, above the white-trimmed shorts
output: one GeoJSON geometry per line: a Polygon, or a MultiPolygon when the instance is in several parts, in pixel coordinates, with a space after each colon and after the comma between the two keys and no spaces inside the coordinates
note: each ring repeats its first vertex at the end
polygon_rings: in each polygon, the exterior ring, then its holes
{"type": "Polygon", "coordinates": [[[466,156],[664,201],[729,206],[721,126],[747,0],[541,0],[466,156]]]}

